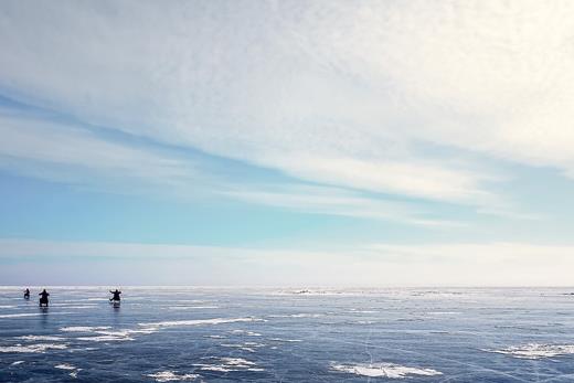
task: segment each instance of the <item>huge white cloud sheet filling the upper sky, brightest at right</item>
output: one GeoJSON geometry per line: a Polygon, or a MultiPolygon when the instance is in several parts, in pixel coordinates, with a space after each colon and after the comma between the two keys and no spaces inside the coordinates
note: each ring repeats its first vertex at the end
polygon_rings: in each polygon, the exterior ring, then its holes
{"type": "Polygon", "coordinates": [[[574,170],[568,2],[3,8],[1,88],[85,121],[482,205],[498,170],[465,152],[574,170]]]}

